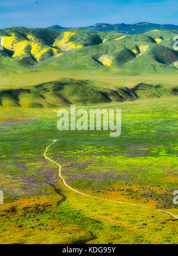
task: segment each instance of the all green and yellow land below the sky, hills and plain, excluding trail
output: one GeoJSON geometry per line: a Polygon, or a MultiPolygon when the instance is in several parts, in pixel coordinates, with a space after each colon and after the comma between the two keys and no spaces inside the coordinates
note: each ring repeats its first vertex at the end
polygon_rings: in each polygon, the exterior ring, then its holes
{"type": "Polygon", "coordinates": [[[178,244],[176,35],[0,30],[0,244],[178,244]],[[121,109],[122,134],[59,131],[71,104],[121,109]],[[129,204],[64,187],[51,140],[68,185],[129,204]]]}

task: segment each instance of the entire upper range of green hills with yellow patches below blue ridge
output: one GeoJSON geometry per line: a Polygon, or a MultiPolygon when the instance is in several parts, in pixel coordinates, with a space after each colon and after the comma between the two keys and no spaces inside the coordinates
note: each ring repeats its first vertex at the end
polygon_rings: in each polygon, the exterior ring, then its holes
{"type": "Polygon", "coordinates": [[[153,30],[128,35],[118,32],[55,31],[12,28],[0,30],[0,61],[15,66],[53,67],[76,72],[176,71],[178,54],[173,50],[177,31],[153,30]],[[17,61],[18,60],[18,61],[17,61]]]}

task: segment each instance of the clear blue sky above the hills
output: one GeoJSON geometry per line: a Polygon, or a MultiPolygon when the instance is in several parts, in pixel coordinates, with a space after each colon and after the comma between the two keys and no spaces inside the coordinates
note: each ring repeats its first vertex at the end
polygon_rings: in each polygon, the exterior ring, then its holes
{"type": "Polygon", "coordinates": [[[0,28],[141,21],[178,25],[177,0],[0,0],[0,28]]]}

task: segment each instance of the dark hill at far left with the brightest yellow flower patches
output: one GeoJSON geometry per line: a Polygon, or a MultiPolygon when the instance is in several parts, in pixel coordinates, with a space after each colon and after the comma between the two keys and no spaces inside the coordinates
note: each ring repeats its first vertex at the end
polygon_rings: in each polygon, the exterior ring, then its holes
{"type": "Polygon", "coordinates": [[[59,35],[56,31],[12,28],[1,30],[0,34],[5,52],[11,58],[20,59],[23,64],[34,64],[59,52],[51,46],[59,35]]]}

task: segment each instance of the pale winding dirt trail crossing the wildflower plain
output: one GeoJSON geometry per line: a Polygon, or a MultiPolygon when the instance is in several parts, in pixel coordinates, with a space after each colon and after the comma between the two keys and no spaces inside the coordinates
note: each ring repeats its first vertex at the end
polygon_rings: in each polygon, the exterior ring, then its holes
{"type": "Polygon", "coordinates": [[[118,203],[118,204],[127,204],[127,205],[129,205],[129,206],[142,207],[142,208],[147,208],[147,209],[150,209],[150,210],[157,210],[157,211],[159,211],[160,213],[167,213],[167,214],[171,215],[172,217],[174,217],[175,219],[178,219],[178,216],[174,216],[173,214],[169,213],[169,211],[158,210],[158,209],[152,209],[152,208],[147,207],[147,206],[140,206],[139,204],[131,204],[131,203],[120,202],[120,201],[115,201],[115,200],[110,200],[110,199],[105,199],[105,198],[100,198],[100,197],[94,197],[94,195],[87,195],[87,194],[84,194],[84,193],[82,193],[82,192],[80,192],[80,191],[77,191],[77,190],[74,189],[74,188],[71,188],[68,184],[66,184],[65,179],[63,179],[63,177],[62,177],[62,175],[61,175],[61,165],[59,165],[59,163],[56,163],[55,161],[53,161],[52,159],[50,159],[49,157],[46,156],[46,153],[47,153],[48,148],[49,148],[50,146],[52,146],[52,144],[54,144],[54,143],[55,143],[56,141],[58,141],[58,140],[52,140],[52,141],[53,141],[53,142],[50,143],[50,144],[45,148],[45,152],[43,153],[43,156],[44,156],[47,160],[49,160],[49,161],[52,162],[52,163],[55,163],[55,165],[58,166],[58,176],[59,176],[59,178],[61,178],[61,181],[62,181],[63,185],[64,185],[66,188],[68,188],[68,189],[70,189],[70,190],[72,190],[72,191],[74,191],[74,192],[76,192],[76,193],[78,193],[78,194],[80,194],[80,195],[85,195],[85,197],[92,197],[92,198],[96,198],[96,199],[98,199],[98,200],[110,201],[110,202],[114,202],[114,203],[118,203]]]}

